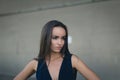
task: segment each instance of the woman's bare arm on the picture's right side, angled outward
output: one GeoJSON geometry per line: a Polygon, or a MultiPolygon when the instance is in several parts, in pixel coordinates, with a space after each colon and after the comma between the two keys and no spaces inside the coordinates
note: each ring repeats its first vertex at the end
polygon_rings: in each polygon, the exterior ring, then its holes
{"type": "Polygon", "coordinates": [[[87,67],[77,56],[72,55],[72,66],[77,69],[88,80],[100,80],[99,77],[87,67]]]}

